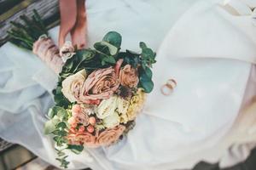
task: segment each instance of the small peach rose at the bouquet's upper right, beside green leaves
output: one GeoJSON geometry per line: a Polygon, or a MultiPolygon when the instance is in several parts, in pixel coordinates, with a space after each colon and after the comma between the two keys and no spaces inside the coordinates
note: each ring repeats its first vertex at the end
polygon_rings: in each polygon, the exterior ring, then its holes
{"type": "Polygon", "coordinates": [[[123,86],[128,86],[129,88],[137,87],[139,82],[137,70],[132,68],[131,65],[125,65],[119,72],[119,80],[123,86]]]}

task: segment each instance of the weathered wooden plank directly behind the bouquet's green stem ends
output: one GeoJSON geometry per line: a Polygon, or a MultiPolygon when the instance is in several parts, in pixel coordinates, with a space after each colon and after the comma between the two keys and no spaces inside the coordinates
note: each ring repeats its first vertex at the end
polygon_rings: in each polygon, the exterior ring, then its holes
{"type": "MultiPolygon", "coordinates": [[[[10,8],[4,14],[0,15],[0,45],[7,41],[7,31],[11,27],[9,22],[11,20],[20,21],[20,15],[32,15],[32,10],[38,10],[43,20],[47,20],[52,16],[59,16],[58,0],[25,0],[10,8]]],[[[58,20],[58,19],[57,19],[58,20]]],[[[53,20],[56,22],[56,20],[53,20]]],[[[52,23],[49,23],[52,24],[52,23]]]]}

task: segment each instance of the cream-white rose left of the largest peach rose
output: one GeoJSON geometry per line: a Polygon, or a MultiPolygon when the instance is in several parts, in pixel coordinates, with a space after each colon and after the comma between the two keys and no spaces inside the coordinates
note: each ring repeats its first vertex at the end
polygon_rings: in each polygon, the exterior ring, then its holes
{"type": "Polygon", "coordinates": [[[86,71],[82,70],[67,77],[62,82],[61,92],[70,102],[75,102],[79,99],[80,89],[84,85],[85,78],[86,71]]]}

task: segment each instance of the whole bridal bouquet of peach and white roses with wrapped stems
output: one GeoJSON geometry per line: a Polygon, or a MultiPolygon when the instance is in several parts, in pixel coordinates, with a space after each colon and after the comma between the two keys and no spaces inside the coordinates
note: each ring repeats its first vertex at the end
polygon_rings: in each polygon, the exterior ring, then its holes
{"type": "Polygon", "coordinates": [[[122,37],[110,31],[94,48],[77,49],[66,42],[59,50],[34,11],[32,19],[21,16],[12,22],[10,42],[30,49],[59,74],[53,91],[45,133],[51,134],[57,160],[67,167],[63,150],[79,153],[86,148],[109,146],[131,130],[152,91],[155,53],[140,42],[141,53],[121,51],[122,37]]]}

